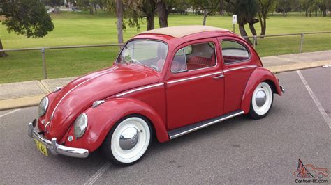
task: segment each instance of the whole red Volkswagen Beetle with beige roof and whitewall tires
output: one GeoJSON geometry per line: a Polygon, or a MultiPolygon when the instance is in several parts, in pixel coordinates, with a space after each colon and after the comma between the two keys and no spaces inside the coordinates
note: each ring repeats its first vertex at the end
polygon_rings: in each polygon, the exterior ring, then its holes
{"type": "Polygon", "coordinates": [[[162,143],[237,115],[263,118],[282,91],[235,33],[154,29],[128,40],[112,67],[45,96],[28,133],[46,156],[87,157],[101,147],[110,161],[127,166],[142,158],[154,135],[162,143]]]}

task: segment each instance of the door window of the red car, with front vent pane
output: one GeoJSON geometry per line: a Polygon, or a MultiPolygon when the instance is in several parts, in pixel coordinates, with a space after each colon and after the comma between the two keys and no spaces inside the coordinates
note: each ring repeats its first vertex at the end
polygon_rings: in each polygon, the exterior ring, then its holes
{"type": "Polygon", "coordinates": [[[172,72],[199,70],[216,65],[215,45],[212,42],[189,45],[179,49],[172,61],[172,72]]]}

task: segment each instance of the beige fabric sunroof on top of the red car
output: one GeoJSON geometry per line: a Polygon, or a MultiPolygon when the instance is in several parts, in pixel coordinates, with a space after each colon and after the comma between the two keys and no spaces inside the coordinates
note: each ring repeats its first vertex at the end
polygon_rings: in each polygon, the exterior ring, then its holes
{"type": "Polygon", "coordinates": [[[143,31],[138,33],[138,35],[145,35],[145,34],[159,34],[159,35],[169,35],[173,38],[183,38],[187,35],[192,35],[195,33],[202,33],[207,31],[220,31],[220,32],[230,32],[227,29],[216,28],[213,26],[200,26],[200,25],[193,25],[193,26],[171,26],[161,29],[153,29],[149,31],[143,31]]]}

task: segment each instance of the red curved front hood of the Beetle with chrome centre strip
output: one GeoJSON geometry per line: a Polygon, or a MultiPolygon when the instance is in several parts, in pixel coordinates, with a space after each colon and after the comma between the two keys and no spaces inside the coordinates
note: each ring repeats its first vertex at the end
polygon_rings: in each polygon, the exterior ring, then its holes
{"type": "Polygon", "coordinates": [[[145,67],[117,66],[87,74],[68,83],[50,99],[45,115],[46,138],[60,140],[80,113],[102,100],[131,88],[157,83],[159,77],[145,67]]]}

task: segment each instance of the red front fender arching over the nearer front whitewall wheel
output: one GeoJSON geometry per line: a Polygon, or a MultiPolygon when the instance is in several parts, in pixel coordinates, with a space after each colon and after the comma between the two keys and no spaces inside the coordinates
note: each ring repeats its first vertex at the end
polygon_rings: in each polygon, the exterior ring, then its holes
{"type": "MultiPolygon", "coordinates": [[[[98,149],[105,140],[110,129],[127,115],[143,115],[152,122],[156,131],[156,137],[159,142],[169,140],[168,133],[165,129],[165,123],[158,113],[149,105],[138,99],[123,97],[109,99],[96,108],[89,108],[84,113],[87,114],[88,125],[82,138],[75,138],[69,142],[66,140],[66,146],[79,147],[93,152],[98,149]]],[[[74,136],[73,126],[68,132],[68,136],[74,136]]]]}

